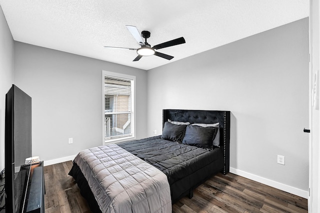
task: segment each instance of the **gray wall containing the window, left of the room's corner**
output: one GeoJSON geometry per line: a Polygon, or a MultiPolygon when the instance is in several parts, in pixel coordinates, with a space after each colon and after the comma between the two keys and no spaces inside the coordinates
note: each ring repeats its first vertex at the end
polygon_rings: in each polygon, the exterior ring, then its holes
{"type": "Polygon", "coordinates": [[[32,97],[33,156],[52,160],[102,144],[102,70],[136,76],[136,137],[146,136],[145,70],[16,41],[14,58],[14,82],[32,97]]]}

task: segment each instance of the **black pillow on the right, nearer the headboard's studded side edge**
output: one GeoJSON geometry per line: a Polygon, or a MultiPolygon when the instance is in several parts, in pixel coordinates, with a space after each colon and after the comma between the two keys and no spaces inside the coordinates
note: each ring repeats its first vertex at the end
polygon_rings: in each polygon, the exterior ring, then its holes
{"type": "Polygon", "coordinates": [[[185,129],[182,143],[200,148],[212,148],[212,139],[215,137],[217,131],[217,127],[188,125],[185,129]]]}

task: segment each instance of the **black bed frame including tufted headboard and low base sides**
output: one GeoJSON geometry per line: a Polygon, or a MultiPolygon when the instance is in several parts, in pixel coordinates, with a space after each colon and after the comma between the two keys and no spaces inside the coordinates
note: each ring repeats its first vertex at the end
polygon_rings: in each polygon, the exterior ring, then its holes
{"type": "MultiPolygon", "coordinates": [[[[216,123],[220,124],[220,148],[223,152],[223,160],[218,163],[218,167],[214,165],[210,165],[209,167],[204,167],[202,169],[212,168],[207,172],[206,176],[201,178],[196,177],[198,179],[196,182],[193,182],[192,185],[185,186],[184,185],[175,185],[172,186],[172,190],[174,187],[185,187],[185,192],[178,197],[171,197],[172,203],[176,202],[183,196],[188,195],[189,198],[193,196],[193,189],[198,185],[203,183],[206,179],[210,178],[212,175],[222,172],[226,174],[229,172],[229,141],[230,141],[230,111],[213,111],[213,110],[186,110],[186,109],[163,109],[162,110],[162,128],[164,122],[167,119],[173,121],[182,121],[182,122],[190,122],[190,123],[216,123]]],[[[75,181],[80,188],[81,195],[86,198],[88,204],[93,212],[101,212],[99,206],[92,194],[92,191],[89,188],[89,185],[84,178],[81,170],[78,166],[73,166],[69,172],[69,175],[76,176],[75,181]],[[77,174],[77,175],[75,175],[77,174]]],[[[170,186],[171,187],[171,186],[170,186]]]]}

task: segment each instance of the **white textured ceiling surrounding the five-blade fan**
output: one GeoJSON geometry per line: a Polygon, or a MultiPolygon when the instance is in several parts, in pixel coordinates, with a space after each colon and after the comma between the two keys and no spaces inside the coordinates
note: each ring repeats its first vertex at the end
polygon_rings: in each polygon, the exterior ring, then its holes
{"type": "Polygon", "coordinates": [[[0,0],[16,41],[151,69],[307,17],[309,0],[0,0]],[[125,25],[151,32],[153,46],[186,43],[132,61],[138,48],[125,25]]]}

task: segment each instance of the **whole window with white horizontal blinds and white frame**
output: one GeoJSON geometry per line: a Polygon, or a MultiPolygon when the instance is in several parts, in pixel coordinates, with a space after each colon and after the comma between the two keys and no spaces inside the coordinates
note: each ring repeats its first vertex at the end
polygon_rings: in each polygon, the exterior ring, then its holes
{"type": "Polygon", "coordinates": [[[134,76],[102,71],[104,142],[134,138],[134,76]]]}

